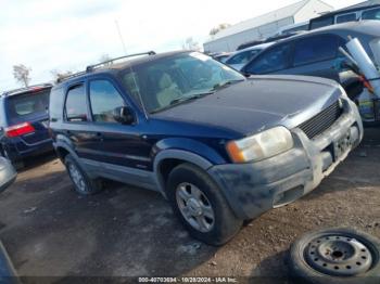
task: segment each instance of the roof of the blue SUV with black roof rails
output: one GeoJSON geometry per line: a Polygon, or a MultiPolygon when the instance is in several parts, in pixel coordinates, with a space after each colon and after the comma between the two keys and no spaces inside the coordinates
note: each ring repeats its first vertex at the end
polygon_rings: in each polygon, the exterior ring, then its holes
{"type": "MultiPolygon", "coordinates": [[[[87,77],[89,75],[92,74],[98,74],[98,73],[112,73],[115,70],[121,70],[121,69],[126,69],[129,67],[134,67],[140,64],[145,64],[149,62],[154,62],[157,61],[160,59],[164,59],[164,57],[168,57],[168,56],[173,56],[176,54],[180,54],[180,53],[186,53],[186,52],[190,52],[190,51],[186,51],[186,50],[180,50],[180,51],[170,51],[170,52],[163,52],[163,53],[159,53],[159,54],[150,54],[150,55],[144,55],[144,56],[140,56],[140,57],[126,57],[125,61],[121,62],[121,63],[115,63],[115,64],[111,64],[111,65],[102,65],[98,64],[96,65],[90,65],[87,67],[87,70],[84,72],[79,72],[77,74],[73,74],[66,78],[63,78],[55,88],[59,88],[60,86],[64,85],[67,81],[71,81],[72,79],[80,79],[84,77],[87,77]],[[97,68],[94,68],[97,67],[97,68]]],[[[147,53],[148,54],[148,53],[147,53]]],[[[118,57],[116,60],[122,60],[123,57],[118,57]]]]}

